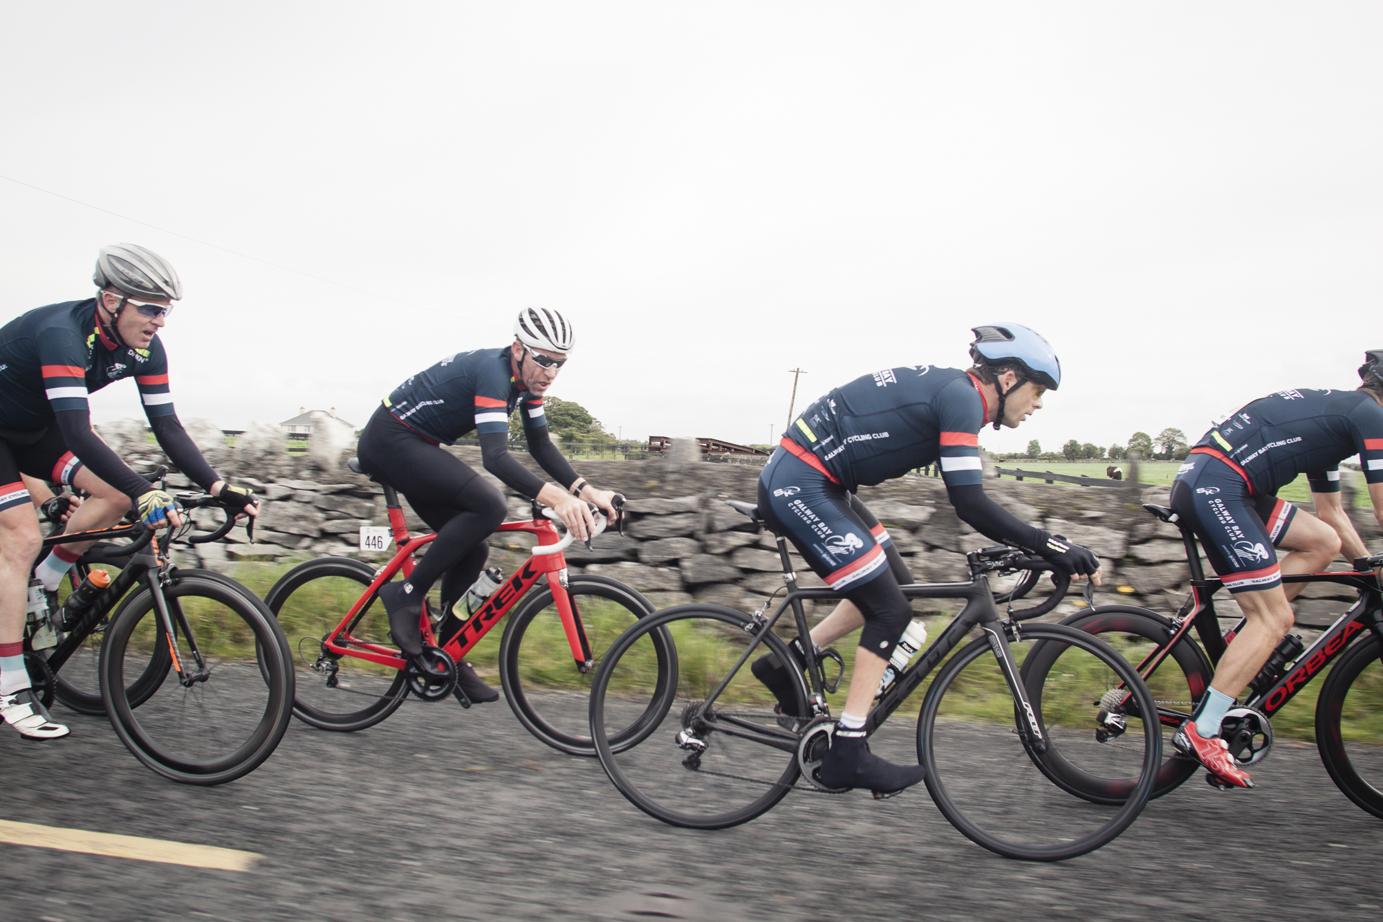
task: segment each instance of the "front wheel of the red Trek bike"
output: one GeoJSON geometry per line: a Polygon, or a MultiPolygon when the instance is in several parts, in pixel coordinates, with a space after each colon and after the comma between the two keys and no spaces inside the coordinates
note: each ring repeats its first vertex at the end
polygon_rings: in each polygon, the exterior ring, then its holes
{"type": "MultiPolygon", "coordinates": [[[[591,742],[591,683],[604,660],[610,644],[640,617],[653,613],[653,605],[639,593],[606,576],[573,576],[567,586],[591,645],[595,669],[582,673],[571,656],[571,644],[563,630],[552,590],[535,588],[524,598],[499,642],[499,681],[519,723],[553,749],[573,756],[593,756],[591,742]]],[[[668,656],[671,638],[667,631],[649,635],[660,662],[668,656]]],[[[658,676],[665,676],[664,670],[658,676]]],[[[631,714],[631,723],[610,735],[613,749],[638,742],[640,734],[653,732],[653,716],[667,709],[672,694],[664,683],[649,696],[647,710],[631,714]]]]}

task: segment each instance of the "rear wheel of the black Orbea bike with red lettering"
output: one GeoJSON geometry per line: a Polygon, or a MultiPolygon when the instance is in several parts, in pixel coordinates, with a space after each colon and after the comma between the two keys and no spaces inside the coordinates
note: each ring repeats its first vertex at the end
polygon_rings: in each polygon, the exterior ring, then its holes
{"type": "MultiPolygon", "coordinates": [[[[1129,660],[1134,669],[1155,649],[1166,645],[1174,633],[1170,619],[1133,605],[1094,608],[1072,615],[1062,624],[1095,634],[1129,660]]],[[[1040,699],[1041,689],[1051,678],[1054,669],[1058,676],[1069,671],[1059,662],[1065,651],[1066,648],[1061,644],[1039,644],[1023,660],[1022,677],[1030,698],[1040,699]]],[[[1177,732],[1181,721],[1191,716],[1196,702],[1210,687],[1213,676],[1214,669],[1210,666],[1210,660],[1206,659],[1200,647],[1187,637],[1177,641],[1177,645],[1167,652],[1167,656],[1158,663],[1151,674],[1144,676],[1144,684],[1148,685],[1153,703],[1159,709],[1163,753],[1158,779],[1149,797],[1160,797],[1174,790],[1199,768],[1195,761],[1181,759],[1177,754],[1177,750],[1171,748],[1171,735],[1177,732]]],[[[1037,706],[1036,700],[1033,706],[1037,706]]],[[[1123,716],[1141,720],[1140,714],[1123,716]]],[[[1094,717],[1095,714],[1091,714],[1091,720],[1094,717]]],[[[1091,730],[1094,730],[1093,723],[1091,730]]],[[[1123,742],[1111,739],[1108,745],[1119,746],[1123,742]]],[[[1123,803],[1135,781],[1133,777],[1108,777],[1086,771],[1086,767],[1062,759],[1059,752],[1037,760],[1037,767],[1047,772],[1054,784],[1093,803],[1123,803]]]]}

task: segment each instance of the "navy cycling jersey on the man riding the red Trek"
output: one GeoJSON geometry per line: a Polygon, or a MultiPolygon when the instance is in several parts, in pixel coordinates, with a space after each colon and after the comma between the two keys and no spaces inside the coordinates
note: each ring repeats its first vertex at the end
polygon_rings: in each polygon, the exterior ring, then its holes
{"type": "MultiPolygon", "coordinates": [[[[394,388],[384,406],[404,425],[433,442],[451,444],[472,429],[509,432],[509,414],[527,392],[513,378],[509,347],[473,349],[447,356],[394,388]]],[[[542,397],[523,401],[526,431],[545,428],[542,397]]]]}

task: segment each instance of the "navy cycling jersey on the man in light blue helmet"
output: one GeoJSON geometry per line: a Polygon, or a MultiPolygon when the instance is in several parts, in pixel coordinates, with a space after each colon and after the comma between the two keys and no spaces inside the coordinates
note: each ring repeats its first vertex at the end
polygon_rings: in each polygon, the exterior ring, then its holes
{"type": "Polygon", "coordinates": [[[957,368],[885,368],[835,388],[798,417],[783,447],[846,490],[940,461],[946,486],[983,483],[978,382],[957,368]]]}

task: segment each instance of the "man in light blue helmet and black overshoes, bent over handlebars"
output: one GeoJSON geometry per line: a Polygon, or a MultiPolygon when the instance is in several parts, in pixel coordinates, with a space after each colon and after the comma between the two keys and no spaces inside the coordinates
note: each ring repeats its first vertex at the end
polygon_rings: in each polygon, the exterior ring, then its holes
{"type": "MultiPolygon", "coordinates": [[[[887,368],[831,390],[788,428],[759,478],[763,518],[784,532],[808,565],[845,595],[812,630],[816,647],[862,624],[855,676],[820,779],[828,788],[892,793],[917,784],[921,766],[895,766],[869,750],[864,718],[888,658],[913,616],[900,584],[913,576],[888,532],[853,496],[940,461],[956,515],[982,534],[1034,551],[1065,573],[1099,583],[1098,558],[1077,544],[1026,525],[985,496],[979,431],[1014,428],[1040,410],[1061,383],[1061,363],[1047,341],[1018,324],[975,328],[968,371],[916,365],[887,368]]],[[[790,645],[798,665],[806,652],[790,645]]],[[[779,698],[794,700],[791,677],[772,653],[754,674],[779,698]]],[[[784,703],[787,702],[787,703],[784,703]]]]}

